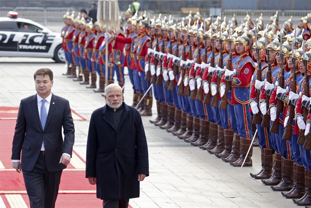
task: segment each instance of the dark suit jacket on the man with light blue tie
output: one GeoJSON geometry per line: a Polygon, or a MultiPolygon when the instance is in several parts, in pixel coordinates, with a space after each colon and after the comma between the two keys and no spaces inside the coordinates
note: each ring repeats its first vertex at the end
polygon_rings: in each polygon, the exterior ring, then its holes
{"type": "Polygon", "coordinates": [[[74,124],[68,100],[52,94],[44,129],[39,118],[36,94],[20,101],[11,159],[21,159],[21,169],[32,171],[40,154],[42,141],[48,171],[66,168],[59,164],[59,159],[63,153],[71,156],[74,143],[74,124]]]}

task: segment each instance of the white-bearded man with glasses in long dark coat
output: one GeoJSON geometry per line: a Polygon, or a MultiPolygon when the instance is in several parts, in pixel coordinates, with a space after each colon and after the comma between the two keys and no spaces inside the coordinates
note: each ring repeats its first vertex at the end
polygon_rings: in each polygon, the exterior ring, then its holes
{"type": "Polygon", "coordinates": [[[105,88],[106,105],[92,113],[86,146],[86,177],[104,208],[126,207],[139,197],[149,175],[148,147],[139,112],[122,102],[122,88],[105,88]]]}

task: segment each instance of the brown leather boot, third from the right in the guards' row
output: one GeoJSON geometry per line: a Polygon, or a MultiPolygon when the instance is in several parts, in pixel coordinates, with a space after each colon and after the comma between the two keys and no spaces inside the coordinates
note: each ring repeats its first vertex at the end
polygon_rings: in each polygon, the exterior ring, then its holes
{"type": "Polygon", "coordinates": [[[270,186],[273,191],[290,191],[294,186],[294,161],[284,158],[283,167],[282,181],[270,186]]]}

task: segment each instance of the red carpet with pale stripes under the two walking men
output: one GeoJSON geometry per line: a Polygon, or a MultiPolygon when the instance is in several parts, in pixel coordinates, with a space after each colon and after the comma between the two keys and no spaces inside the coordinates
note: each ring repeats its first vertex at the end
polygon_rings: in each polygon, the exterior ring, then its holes
{"type": "MultiPolygon", "coordinates": [[[[11,148],[14,136],[18,107],[0,107],[0,207],[29,208],[29,199],[25,190],[22,173],[11,167],[11,148]],[[2,204],[3,205],[3,204],[2,204]]],[[[72,115],[85,120],[72,111],[72,115]]],[[[75,151],[71,162],[62,173],[56,208],[100,208],[103,201],[96,198],[96,186],[85,178],[85,161],[75,151]],[[82,164],[82,165],[81,165],[82,164]],[[77,169],[76,167],[79,167],[77,169]]],[[[131,208],[131,206],[129,206],[131,208]]]]}

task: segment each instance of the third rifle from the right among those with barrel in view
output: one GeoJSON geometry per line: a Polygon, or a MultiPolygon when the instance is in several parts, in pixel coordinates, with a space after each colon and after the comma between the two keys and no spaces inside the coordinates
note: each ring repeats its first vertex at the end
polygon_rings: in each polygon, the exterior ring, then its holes
{"type": "MultiPolygon", "coordinates": [[[[283,44],[283,37],[282,37],[282,33],[281,33],[281,36],[280,36],[280,56],[281,56],[281,76],[280,76],[280,79],[279,79],[279,86],[284,88],[284,67],[283,67],[283,60],[284,60],[284,54],[283,54],[283,51],[282,51],[282,44],[283,44]]],[[[278,126],[279,126],[279,117],[280,117],[280,114],[281,112],[283,112],[283,102],[279,99],[277,99],[276,101],[276,121],[273,121],[272,123],[272,126],[271,126],[271,129],[270,129],[270,132],[271,133],[274,133],[274,134],[278,134],[278,126]]]]}

